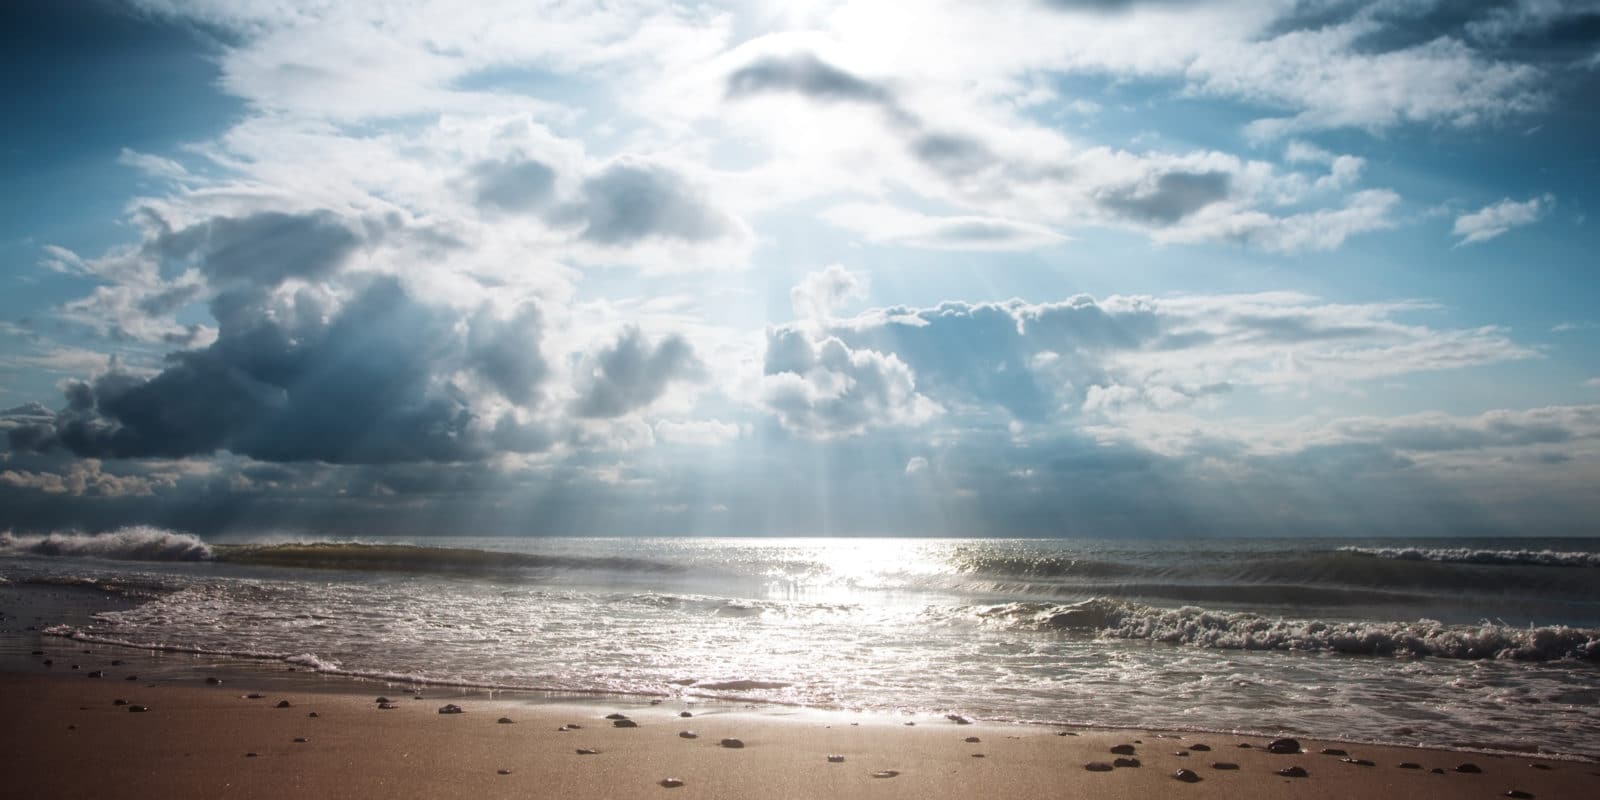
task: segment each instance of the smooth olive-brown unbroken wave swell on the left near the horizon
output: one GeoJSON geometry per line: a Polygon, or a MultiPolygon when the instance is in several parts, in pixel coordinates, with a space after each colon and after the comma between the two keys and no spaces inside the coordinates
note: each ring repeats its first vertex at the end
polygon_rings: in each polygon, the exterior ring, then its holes
{"type": "Polygon", "coordinates": [[[218,562],[310,570],[370,570],[397,573],[498,573],[506,570],[608,570],[678,573],[683,566],[646,558],[533,555],[469,547],[414,544],[291,542],[216,546],[218,562]]]}

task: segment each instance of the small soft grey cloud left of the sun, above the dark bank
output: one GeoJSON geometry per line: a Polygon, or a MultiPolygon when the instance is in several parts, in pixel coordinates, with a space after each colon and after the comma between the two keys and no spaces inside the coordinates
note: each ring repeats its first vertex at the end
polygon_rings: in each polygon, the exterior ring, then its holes
{"type": "Polygon", "coordinates": [[[578,202],[555,219],[582,224],[584,240],[616,246],[651,238],[709,242],[736,227],[682,176],[646,163],[616,163],[586,179],[578,202]]]}

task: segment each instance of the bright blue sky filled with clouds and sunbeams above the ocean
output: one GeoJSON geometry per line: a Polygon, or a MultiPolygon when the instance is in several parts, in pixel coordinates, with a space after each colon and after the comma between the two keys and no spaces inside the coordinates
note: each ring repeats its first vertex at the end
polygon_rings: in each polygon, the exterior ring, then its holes
{"type": "Polygon", "coordinates": [[[0,530],[1600,534],[1595,0],[0,18],[0,530]]]}

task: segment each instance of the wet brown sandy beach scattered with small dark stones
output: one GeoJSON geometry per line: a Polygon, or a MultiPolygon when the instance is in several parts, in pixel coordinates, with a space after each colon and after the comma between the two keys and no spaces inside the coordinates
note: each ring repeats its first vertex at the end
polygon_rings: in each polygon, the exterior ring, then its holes
{"type": "Polygon", "coordinates": [[[582,706],[418,698],[362,682],[334,693],[282,683],[256,691],[248,678],[154,685],[122,672],[86,661],[70,674],[0,674],[0,766],[11,797],[1456,798],[1600,790],[1600,765],[1472,752],[1301,739],[1302,752],[1280,755],[1267,752],[1266,739],[1229,734],[770,714],[645,698],[582,706]],[[102,677],[86,677],[94,669],[102,677]],[[394,707],[379,707],[379,696],[394,707]],[[462,710],[440,714],[450,702],[462,710]],[[147,710],[133,710],[139,707],[147,710]],[[610,714],[635,726],[616,726],[610,714]],[[1123,744],[1133,755],[1112,752],[1123,744]],[[1117,758],[1138,766],[1086,768],[1117,758]],[[1480,771],[1459,771],[1466,763],[1480,771]],[[1293,766],[1306,776],[1278,774],[1293,766]],[[1178,778],[1179,770],[1197,779],[1178,778]],[[667,779],[682,786],[662,786],[667,779]]]}

